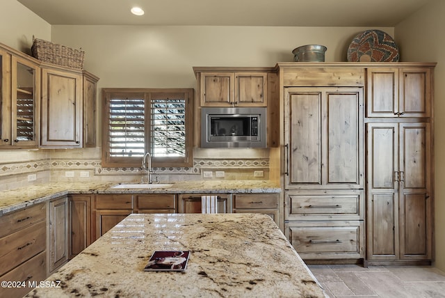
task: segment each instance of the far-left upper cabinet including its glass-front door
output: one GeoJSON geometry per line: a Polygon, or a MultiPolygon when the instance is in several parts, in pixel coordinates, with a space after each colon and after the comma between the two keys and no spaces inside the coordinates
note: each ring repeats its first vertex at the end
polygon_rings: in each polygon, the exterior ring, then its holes
{"type": "Polygon", "coordinates": [[[0,48],[0,148],[37,148],[40,68],[31,59],[0,48]]]}

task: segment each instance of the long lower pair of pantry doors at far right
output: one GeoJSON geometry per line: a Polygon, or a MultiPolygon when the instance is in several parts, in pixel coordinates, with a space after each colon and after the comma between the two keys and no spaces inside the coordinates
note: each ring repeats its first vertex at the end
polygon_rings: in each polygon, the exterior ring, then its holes
{"type": "Polygon", "coordinates": [[[430,123],[368,123],[368,258],[432,258],[430,123]]]}

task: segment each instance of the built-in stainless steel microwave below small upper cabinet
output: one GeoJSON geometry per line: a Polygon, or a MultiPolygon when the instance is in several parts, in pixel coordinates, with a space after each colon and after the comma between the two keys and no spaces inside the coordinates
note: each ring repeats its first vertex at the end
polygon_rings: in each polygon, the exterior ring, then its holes
{"type": "Polygon", "coordinates": [[[203,148],[266,148],[266,108],[201,109],[203,148]]]}

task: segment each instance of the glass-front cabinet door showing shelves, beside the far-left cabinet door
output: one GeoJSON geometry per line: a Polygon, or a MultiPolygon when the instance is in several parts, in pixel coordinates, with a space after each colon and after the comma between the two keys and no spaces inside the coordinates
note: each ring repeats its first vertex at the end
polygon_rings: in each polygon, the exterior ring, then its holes
{"type": "Polygon", "coordinates": [[[40,72],[37,65],[13,56],[11,69],[12,146],[37,147],[40,72]]]}

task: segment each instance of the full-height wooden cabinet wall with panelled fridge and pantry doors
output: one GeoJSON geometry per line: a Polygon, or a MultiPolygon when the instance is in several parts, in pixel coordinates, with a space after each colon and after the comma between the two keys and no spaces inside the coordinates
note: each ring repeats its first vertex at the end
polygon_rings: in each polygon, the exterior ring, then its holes
{"type": "Polygon", "coordinates": [[[433,259],[435,63],[278,63],[285,234],[307,262],[433,259]]]}

